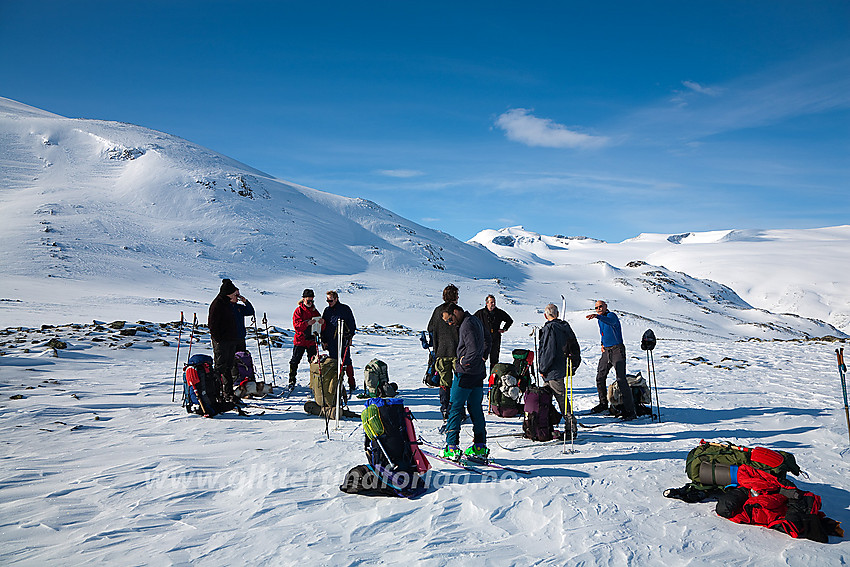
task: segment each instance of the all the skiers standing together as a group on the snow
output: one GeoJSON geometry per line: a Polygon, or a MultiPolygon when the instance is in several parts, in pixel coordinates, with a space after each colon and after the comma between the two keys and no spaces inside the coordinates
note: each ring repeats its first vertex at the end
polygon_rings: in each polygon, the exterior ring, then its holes
{"type": "MultiPolygon", "coordinates": [[[[484,379],[499,362],[502,334],[513,324],[513,319],[502,309],[496,307],[496,298],[488,295],[484,307],[475,315],[458,305],[459,291],[449,284],[443,289],[443,303],[438,305],[428,322],[428,333],[434,346],[435,368],[440,377],[440,413],[446,423],[446,448],[443,455],[459,458],[460,426],[466,412],[472,420],[473,445],[465,451],[467,455],[486,458],[487,432],[485,428],[484,379]]],[[[305,289],[292,314],[293,337],[292,358],[289,361],[289,385],[294,388],[298,365],[307,354],[308,360],[318,354],[319,347],[328,352],[330,358],[339,360],[343,365],[351,391],[356,389],[354,366],[351,362],[351,342],[357,332],[357,323],[351,308],[339,301],[336,291],[326,293],[327,307],[322,313],[315,305],[315,293],[305,289]],[[342,349],[339,352],[339,335],[342,334],[342,349]]],[[[245,317],[254,315],[254,307],[239,293],[239,289],[229,279],[222,280],[219,293],[209,309],[209,329],[212,338],[214,364],[221,373],[225,397],[233,393],[233,381],[238,377],[235,354],[246,349],[245,317]]],[[[545,387],[549,388],[557,400],[561,414],[572,416],[572,408],[567,399],[566,377],[574,373],[581,364],[581,349],[575,333],[569,323],[559,318],[558,307],[548,304],[543,315],[546,323],[540,330],[538,349],[538,370],[545,387]]],[[[608,305],[597,300],[594,313],[587,319],[596,319],[601,336],[602,356],[596,372],[596,387],[599,404],[592,413],[608,410],[607,377],[614,368],[617,383],[623,398],[624,413],[622,419],[636,417],[635,404],[631,388],[626,379],[626,347],[623,331],[615,313],[608,305]]],[[[576,433],[575,418],[570,427],[576,433]]]]}

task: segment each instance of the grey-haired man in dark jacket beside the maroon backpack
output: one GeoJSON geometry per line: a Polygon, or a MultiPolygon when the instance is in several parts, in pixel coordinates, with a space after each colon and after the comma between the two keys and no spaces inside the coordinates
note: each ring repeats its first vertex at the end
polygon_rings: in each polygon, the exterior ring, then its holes
{"type": "Polygon", "coordinates": [[[558,307],[554,303],[547,305],[543,314],[546,317],[546,324],[540,330],[538,369],[546,387],[552,391],[558,401],[564,423],[567,423],[567,416],[570,416],[570,429],[575,439],[577,424],[567,399],[565,378],[568,360],[571,362],[573,373],[581,364],[581,348],[569,323],[558,319],[558,307]]]}

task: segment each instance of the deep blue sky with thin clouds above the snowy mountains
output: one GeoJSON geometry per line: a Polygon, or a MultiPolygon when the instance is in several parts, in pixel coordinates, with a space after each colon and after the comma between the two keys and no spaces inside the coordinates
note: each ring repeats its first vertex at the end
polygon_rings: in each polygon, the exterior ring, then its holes
{"type": "Polygon", "coordinates": [[[592,4],[0,0],[0,96],[464,240],[850,222],[850,2],[592,4]]]}

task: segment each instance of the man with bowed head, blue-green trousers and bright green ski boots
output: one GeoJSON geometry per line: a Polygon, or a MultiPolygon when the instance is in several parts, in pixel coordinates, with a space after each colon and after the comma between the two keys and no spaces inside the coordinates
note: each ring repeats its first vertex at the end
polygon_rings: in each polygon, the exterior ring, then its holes
{"type": "Polygon", "coordinates": [[[464,406],[472,419],[473,445],[466,454],[486,459],[487,429],[481,402],[484,399],[484,378],[487,376],[487,355],[490,354],[490,337],[477,317],[452,303],[443,308],[442,319],[451,327],[458,327],[457,374],[452,382],[451,409],[446,425],[446,448],[442,456],[460,459],[460,424],[464,406]]]}

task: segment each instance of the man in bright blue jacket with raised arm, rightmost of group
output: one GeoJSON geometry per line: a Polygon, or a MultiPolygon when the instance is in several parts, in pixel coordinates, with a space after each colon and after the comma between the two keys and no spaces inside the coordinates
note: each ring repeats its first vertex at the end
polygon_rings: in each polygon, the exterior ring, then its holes
{"type": "Polygon", "coordinates": [[[602,356],[596,368],[596,391],[599,394],[599,404],[590,411],[602,413],[608,409],[608,388],[605,382],[613,366],[617,374],[620,395],[623,397],[623,420],[630,421],[636,417],[635,401],[629,381],[626,379],[626,345],[623,342],[620,319],[615,313],[608,311],[608,304],[601,299],[596,300],[594,309],[596,313],[591,313],[587,319],[596,319],[599,323],[599,334],[602,335],[602,356]]]}

